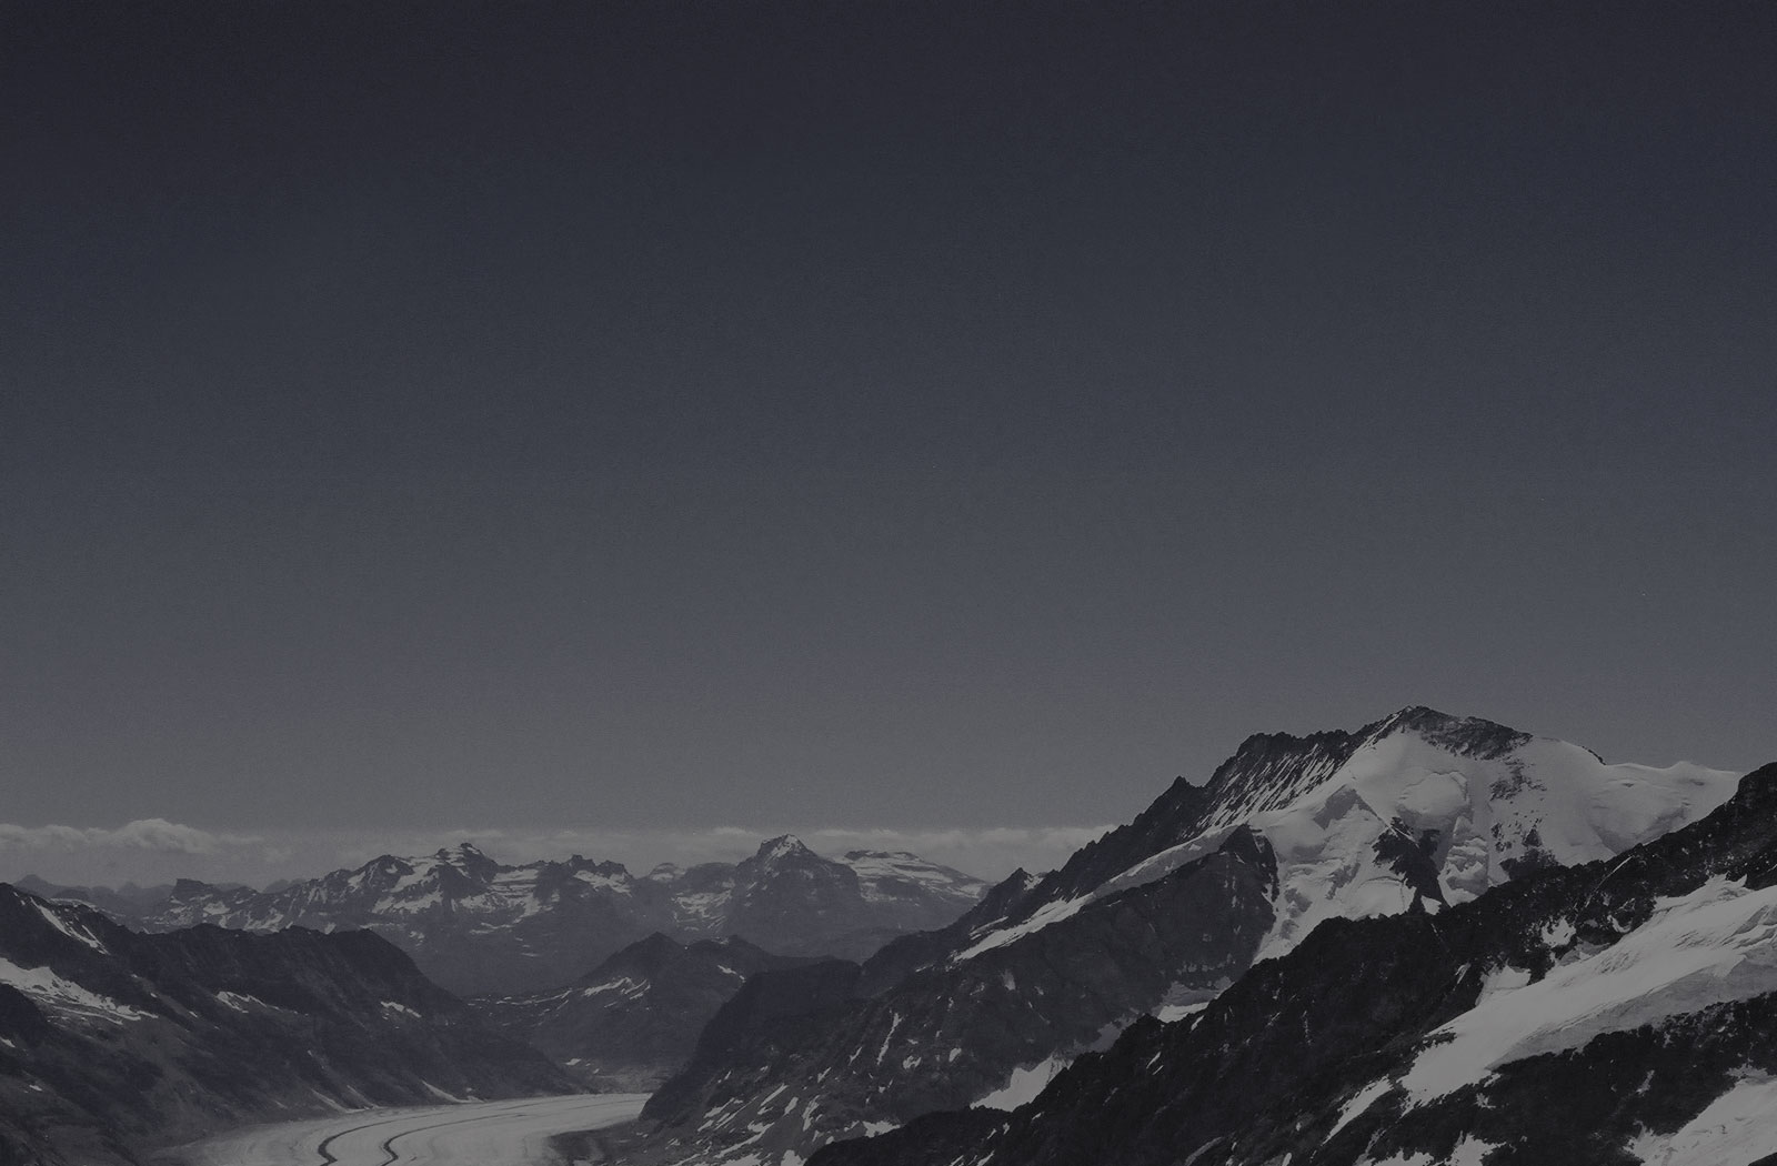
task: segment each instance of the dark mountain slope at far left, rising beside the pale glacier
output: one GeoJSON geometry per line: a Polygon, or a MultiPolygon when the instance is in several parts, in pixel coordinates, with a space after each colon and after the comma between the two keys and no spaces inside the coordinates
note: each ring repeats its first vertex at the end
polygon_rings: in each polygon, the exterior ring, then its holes
{"type": "Polygon", "coordinates": [[[0,1161],[133,1162],[274,1114],[572,1090],[368,931],[139,935],[0,885],[0,1161]]]}

